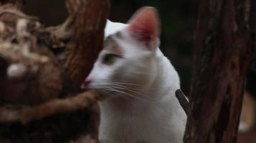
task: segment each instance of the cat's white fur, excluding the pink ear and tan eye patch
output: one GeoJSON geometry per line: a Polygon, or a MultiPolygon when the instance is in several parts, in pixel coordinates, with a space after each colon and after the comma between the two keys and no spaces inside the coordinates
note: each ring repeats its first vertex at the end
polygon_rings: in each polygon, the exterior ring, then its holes
{"type": "Polygon", "coordinates": [[[116,39],[124,59],[106,66],[101,60],[109,51],[101,51],[87,78],[91,80],[89,87],[101,89],[105,82],[127,82],[141,87],[134,86],[132,90],[136,92],[122,90],[127,94],[111,92],[113,98],[99,103],[101,143],[182,142],[186,114],[175,98],[175,90],[180,89],[177,71],[159,48],[150,51],[133,39],[126,24],[107,21],[105,38],[117,31],[124,35],[124,39],[116,39]]]}

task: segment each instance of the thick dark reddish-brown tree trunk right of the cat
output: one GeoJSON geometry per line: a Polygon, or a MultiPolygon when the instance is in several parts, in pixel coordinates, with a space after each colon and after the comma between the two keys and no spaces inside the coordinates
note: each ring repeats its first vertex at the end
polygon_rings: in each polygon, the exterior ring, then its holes
{"type": "Polygon", "coordinates": [[[201,0],[184,142],[236,142],[254,46],[250,0],[201,0]]]}

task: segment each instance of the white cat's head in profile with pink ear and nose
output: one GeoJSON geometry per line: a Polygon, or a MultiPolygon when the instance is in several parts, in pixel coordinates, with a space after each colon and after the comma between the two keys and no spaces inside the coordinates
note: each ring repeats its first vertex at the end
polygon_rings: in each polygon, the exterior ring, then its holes
{"type": "Polygon", "coordinates": [[[137,11],[128,24],[107,21],[104,49],[83,87],[119,93],[149,87],[156,76],[159,35],[160,21],[152,7],[137,11]]]}

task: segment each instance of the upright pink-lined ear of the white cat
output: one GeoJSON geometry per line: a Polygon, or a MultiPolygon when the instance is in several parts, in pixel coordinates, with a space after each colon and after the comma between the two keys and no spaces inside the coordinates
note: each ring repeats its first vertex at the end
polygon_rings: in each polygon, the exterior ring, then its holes
{"type": "Polygon", "coordinates": [[[137,40],[153,50],[157,47],[160,36],[160,21],[157,10],[153,7],[142,7],[129,20],[129,31],[137,40]]]}

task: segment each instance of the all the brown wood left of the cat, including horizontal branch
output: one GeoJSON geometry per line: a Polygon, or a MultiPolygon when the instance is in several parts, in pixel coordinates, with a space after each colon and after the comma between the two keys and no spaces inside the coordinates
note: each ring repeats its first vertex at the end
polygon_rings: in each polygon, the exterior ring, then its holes
{"type": "Polygon", "coordinates": [[[109,0],[66,0],[67,21],[46,28],[23,2],[0,1],[0,142],[94,142],[97,97],[79,87],[102,48],[109,0]]]}

